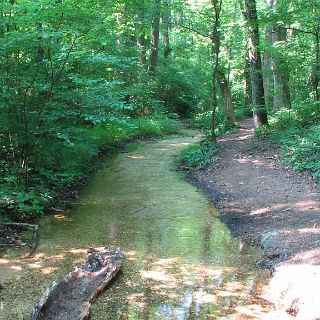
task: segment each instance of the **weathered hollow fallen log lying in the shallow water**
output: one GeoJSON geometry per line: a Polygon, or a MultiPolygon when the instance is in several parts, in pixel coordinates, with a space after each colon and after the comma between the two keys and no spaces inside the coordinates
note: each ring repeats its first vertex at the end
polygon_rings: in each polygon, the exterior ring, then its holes
{"type": "Polygon", "coordinates": [[[90,249],[86,262],[59,282],[53,281],[35,304],[31,320],[88,319],[90,305],[120,270],[120,249],[90,249]]]}

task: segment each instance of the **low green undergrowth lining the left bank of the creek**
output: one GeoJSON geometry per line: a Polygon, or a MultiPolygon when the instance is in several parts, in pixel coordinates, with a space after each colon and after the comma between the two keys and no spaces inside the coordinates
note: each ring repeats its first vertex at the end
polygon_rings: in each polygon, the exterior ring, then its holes
{"type": "Polygon", "coordinates": [[[0,222],[41,216],[53,201],[71,195],[92,171],[99,154],[117,150],[137,138],[178,132],[172,119],[139,118],[79,129],[46,144],[34,159],[29,190],[21,188],[18,167],[0,166],[0,222]]]}

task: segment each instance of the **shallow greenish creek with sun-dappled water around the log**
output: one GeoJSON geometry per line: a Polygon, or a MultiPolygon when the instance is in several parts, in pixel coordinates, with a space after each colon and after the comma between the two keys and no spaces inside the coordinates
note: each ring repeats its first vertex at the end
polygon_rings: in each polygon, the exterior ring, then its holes
{"type": "Polygon", "coordinates": [[[0,319],[29,319],[49,283],[89,247],[119,246],[122,273],[94,303],[93,320],[260,319],[268,276],[175,169],[192,137],[143,142],[108,158],[67,214],[41,221],[31,259],[0,256],[0,319]]]}

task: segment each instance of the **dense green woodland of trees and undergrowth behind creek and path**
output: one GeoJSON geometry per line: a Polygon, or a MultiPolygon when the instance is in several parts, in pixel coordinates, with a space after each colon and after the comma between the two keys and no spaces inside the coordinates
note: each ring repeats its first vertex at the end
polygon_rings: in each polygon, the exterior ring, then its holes
{"type": "MultiPolygon", "coordinates": [[[[253,115],[320,177],[320,1],[1,0],[0,222],[33,219],[127,141],[253,115]]],[[[214,147],[213,147],[214,146],[214,147]]]]}

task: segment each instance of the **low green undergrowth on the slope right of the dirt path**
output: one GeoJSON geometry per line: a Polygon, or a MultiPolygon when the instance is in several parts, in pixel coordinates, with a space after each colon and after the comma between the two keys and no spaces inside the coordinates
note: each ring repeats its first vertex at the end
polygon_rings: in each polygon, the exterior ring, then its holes
{"type": "Polygon", "coordinates": [[[279,144],[285,163],[294,170],[309,171],[320,181],[320,120],[316,114],[278,112],[270,119],[270,126],[259,128],[255,137],[279,144]]]}

